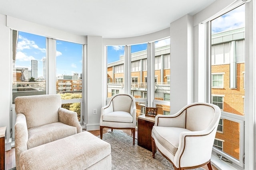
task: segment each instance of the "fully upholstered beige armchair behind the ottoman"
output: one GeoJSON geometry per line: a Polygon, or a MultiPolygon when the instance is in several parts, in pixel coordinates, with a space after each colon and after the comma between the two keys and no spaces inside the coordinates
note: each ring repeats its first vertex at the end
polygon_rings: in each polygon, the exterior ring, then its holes
{"type": "Polygon", "coordinates": [[[82,132],[77,113],[61,107],[58,94],[15,98],[15,158],[25,150],[82,132]]]}

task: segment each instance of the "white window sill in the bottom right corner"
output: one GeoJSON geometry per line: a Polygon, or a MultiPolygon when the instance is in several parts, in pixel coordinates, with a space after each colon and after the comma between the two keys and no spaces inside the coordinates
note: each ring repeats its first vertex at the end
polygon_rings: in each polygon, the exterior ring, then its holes
{"type": "Polygon", "coordinates": [[[225,162],[223,160],[220,160],[217,156],[215,156],[213,154],[212,154],[212,157],[211,157],[211,163],[218,170],[244,170],[243,168],[234,166],[234,165],[230,164],[229,162],[225,162]]]}

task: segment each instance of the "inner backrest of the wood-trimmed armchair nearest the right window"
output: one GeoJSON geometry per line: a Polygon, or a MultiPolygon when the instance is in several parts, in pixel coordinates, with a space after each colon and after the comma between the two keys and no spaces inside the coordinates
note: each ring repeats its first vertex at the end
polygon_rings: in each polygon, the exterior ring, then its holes
{"type": "Polygon", "coordinates": [[[213,121],[215,110],[213,107],[198,104],[186,109],[186,129],[190,131],[202,131],[213,121]]]}

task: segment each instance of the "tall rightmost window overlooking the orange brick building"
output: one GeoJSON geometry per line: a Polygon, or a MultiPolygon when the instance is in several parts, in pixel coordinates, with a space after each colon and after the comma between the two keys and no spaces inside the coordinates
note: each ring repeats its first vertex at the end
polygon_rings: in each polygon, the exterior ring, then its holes
{"type": "Polygon", "coordinates": [[[211,102],[222,111],[214,141],[219,158],[244,166],[244,5],[211,21],[211,102]]]}

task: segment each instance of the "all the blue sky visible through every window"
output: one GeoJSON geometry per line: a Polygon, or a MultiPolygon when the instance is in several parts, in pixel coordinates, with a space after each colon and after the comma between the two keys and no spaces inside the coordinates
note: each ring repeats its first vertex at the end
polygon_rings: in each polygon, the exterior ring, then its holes
{"type": "MultiPolygon", "coordinates": [[[[244,5],[212,20],[212,33],[244,27],[244,5]],[[234,22],[235,21],[235,22],[234,22]]],[[[155,47],[170,44],[170,38],[156,41],[155,47]]],[[[124,46],[108,46],[107,62],[118,61],[124,46]]],[[[147,49],[147,43],[132,45],[131,52],[147,49]]],[[[56,40],[56,76],[82,73],[82,45],[56,40]]],[[[43,76],[42,59],[46,57],[46,37],[19,31],[15,67],[31,70],[31,60],[38,61],[38,77],[43,76]]]]}

